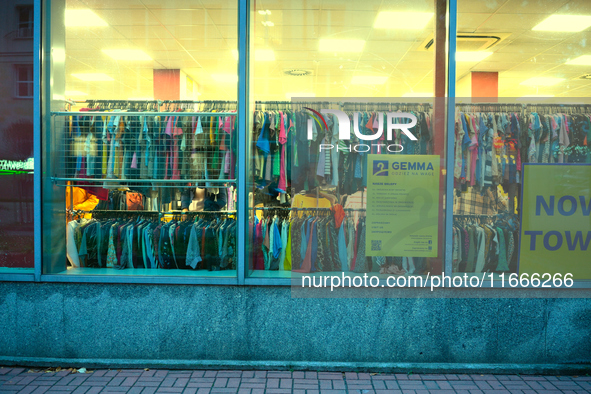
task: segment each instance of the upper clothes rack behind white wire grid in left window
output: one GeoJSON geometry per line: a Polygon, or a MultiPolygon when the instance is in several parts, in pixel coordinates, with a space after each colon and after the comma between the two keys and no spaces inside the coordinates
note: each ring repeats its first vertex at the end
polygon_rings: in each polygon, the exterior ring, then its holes
{"type": "Polygon", "coordinates": [[[220,102],[196,111],[193,105],[183,108],[186,102],[143,102],[144,107],[104,103],[89,101],[88,111],[52,113],[60,158],[52,171],[54,182],[149,181],[175,187],[235,181],[235,105],[220,102]],[[167,111],[138,110],[151,105],[167,111]]]}

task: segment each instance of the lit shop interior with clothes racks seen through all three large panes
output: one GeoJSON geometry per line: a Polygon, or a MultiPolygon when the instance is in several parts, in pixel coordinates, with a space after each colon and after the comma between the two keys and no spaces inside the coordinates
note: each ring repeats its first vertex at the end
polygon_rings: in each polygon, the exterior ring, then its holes
{"type": "MultiPolygon", "coordinates": [[[[333,271],[440,273],[442,253],[433,259],[366,257],[357,248],[365,244],[362,227],[367,203],[363,176],[355,173],[357,159],[349,163],[338,155],[322,158],[324,171],[296,182],[292,176],[299,164],[288,157],[294,148],[285,142],[291,138],[292,123],[296,129],[305,124],[307,118],[298,119],[297,114],[305,106],[319,110],[318,101],[328,98],[331,108],[350,116],[357,112],[366,122],[389,110],[416,114],[424,120],[424,129],[417,130],[422,145],[411,153],[446,159],[443,147],[436,143],[437,138],[444,140],[437,135],[444,131],[435,130],[433,118],[434,3],[256,1],[252,17],[254,78],[250,89],[256,106],[247,152],[252,240],[248,274],[289,278],[294,273],[333,271]],[[292,100],[300,103],[294,105],[292,100]],[[352,182],[343,184],[347,171],[352,182]],[[298,212],[298,208],[306,210],[298,212]],[[341,210],[344,218],[333,220],[341,210]],[[317,230],[315,239],[322,251],[315,264],[305,261],[305,253],[300,256],[287,247],[293,247],[288,242],[295,227],[292,222],[302,215],[325,224],[323,234],[320,227],[317,230]],[[339,255],[341,245],[345,253],[339,255]]],[[[588,160],[588,155],[573,158],[570,151],[559,159],[564,152],[552,153],[552,133],[534,137],[531,153],[532,137],[528,139],[527,130],[536,119],[540,122],[539,115],[542,125],[550,124],[554,116],[578,119],[591,115],[584,105],[584,98],[591,96],[591,52],[587,49],[591,4],[584,0],[459,0],[457,25],[459,104],[453,160],[459,172],[454,173],[457,251],[454,247],[451,268],[458,273],[515,272],[517,162],[588,160]],[[580,102],[573,97],[581,98],[580,102]],[[556,100],[568,101],[570,106],[557,108],[556,100]],[[475,133],[481,129],[476,122],[481,121],[492,130],[490,135],[475,133]],[[480,146],[484,148],[479,150],[480,146]],[[482,176],[474,172],[476,163],[480,163],[477,168],[482,176]],[[486,173],[489,167],[490,174],[486,173]],[[484,230],[486,226],[491,233],[484,230]],[[485,245],[486,239],[495,236],[494,249],[479,246],[480,241],[485,245]],[[461,250],[463,242],[470,247],[461,250]]],[[[235,165],[237,155],[244,153],[237,151],[235,128],[237,2],[67,0],[65,32],[64,110],[82,110],[85,116],[62,114],[67,126],[61,184],[67,193],[67,225],[76,226],[68,232],[69,263],[64,272],[154,275],[153,268],[158,268],[158,275],[235,276],[235,165]],[[89,110],[152,115],[90,116],[89,110]],[[89,134],[96,147],[88,147],[89,134]],[[168,139],[155,144],[155,136],[161,134],[168,139]],[[134,138],[123,137],[130,135],[134,138]],[[100,160],[97,149],[105,152],[100,160]],[[161,153],[164,161],[158,159],[161,153]],[[95,187],[107,193],[106,200],[93,193],[95,187]],[[84,230],[89,227],[94,229],[84,230]],[[154,238],[156,229],[159,236],[154,238]],[[83,237],[90,239],[95,234],[96,241],[84,238],[83,247],[83,237]],[[161,242],[170,246],[163,247],[161,242]],[[146,254],[148,249],[153,256],[146,254]]],[[[558,130],[554,139],[559,134],[558,130]]],[[[327,133],[324,138],[330,141],[333,137],[327,133]]],[[[573,147],[586,147],[585,140],[571,140],[573,147]]],[[[363,155],[359,156],[362,160],[363,155]]],[[[314,171],[319,160],[311,161],[314,171]]],[[[444,218],[443,214],[439,218],[441,226],[444,218]]]]}

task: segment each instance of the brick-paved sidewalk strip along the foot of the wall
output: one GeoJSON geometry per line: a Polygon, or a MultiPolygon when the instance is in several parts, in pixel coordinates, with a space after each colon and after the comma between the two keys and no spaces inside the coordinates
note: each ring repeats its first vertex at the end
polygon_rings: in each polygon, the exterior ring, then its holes
{"type": "Polygon", "coordinates": [[[0,394],[587,394],[591,376],[0,368],[0,394]]]}

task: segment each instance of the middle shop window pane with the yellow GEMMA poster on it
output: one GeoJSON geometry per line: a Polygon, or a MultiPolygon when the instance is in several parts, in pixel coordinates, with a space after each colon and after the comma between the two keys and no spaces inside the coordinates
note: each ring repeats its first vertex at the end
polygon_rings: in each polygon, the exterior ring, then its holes
{"type": "Polygon", "coordinates": [[[442,272],[434,14],[431,1],[256,2],[251,278],[442,272]]]}

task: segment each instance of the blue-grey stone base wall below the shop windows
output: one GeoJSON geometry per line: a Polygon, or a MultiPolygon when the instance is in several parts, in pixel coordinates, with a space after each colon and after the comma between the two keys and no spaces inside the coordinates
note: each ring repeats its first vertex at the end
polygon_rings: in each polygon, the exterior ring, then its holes
{"type": "Polygon", "coordinates": [[[0,283],[0,333],[0,364],[584,370],[591,299],[297,299],[289,287],[13,282],[0,283]]]}

